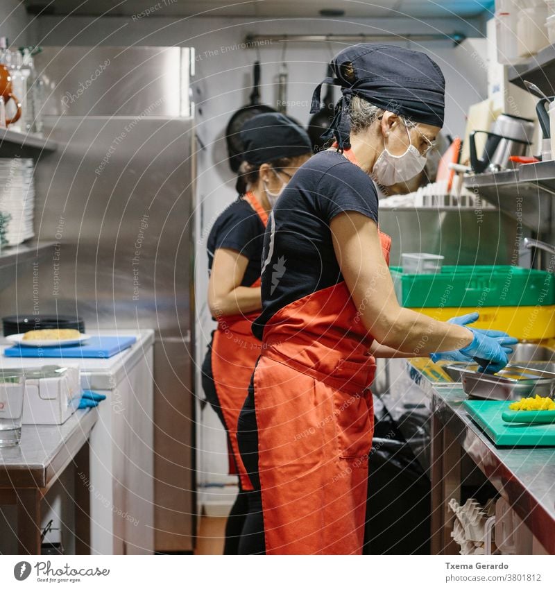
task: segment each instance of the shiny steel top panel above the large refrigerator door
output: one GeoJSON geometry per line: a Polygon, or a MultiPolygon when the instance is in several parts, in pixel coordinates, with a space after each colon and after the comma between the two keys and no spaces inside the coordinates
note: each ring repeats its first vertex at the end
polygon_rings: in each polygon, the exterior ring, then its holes
{"type": "MultiPolygon", "coordinates": [[[[188,47],[45,46],[43,115],[189,117],[188,47]]],[[[194,59],[194,58],[193,58],[194,59]]]]}

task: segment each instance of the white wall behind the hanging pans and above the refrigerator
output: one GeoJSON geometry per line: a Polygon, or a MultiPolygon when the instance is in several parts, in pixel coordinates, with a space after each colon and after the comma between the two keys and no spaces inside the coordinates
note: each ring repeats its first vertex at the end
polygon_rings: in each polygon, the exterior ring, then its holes
{"type": "MultiPolygon", "coordinates": [[[[226,162],[224,132],[231,114],[248,103],[252,65],[255,59],[262,62],[262,101],[275,105],[275,85],[280,63],[284,58],[289,67],[288,114],[302,123],[309,119],[309,101],[314,86],[325,76],[325,64],[345,44],[292,43],[270,44],[254,49],[237,48],[246,33],[454,33],[469,37],[481,36],[479,22],[461,19],[429,19],[427,22],[392,18],[357,22],[333,22],[330,19],[268,19],[246,22],[238,18],[169,19],[148,17],[41,17],[35,42],[45,45],[78,44],[93,46],[154,45],[193,46],[196,48],[196,78],[194,101],[198,136],[205,151],[198,153],[198,223],[199,247],[197,253],[196,291],[198,308],[198,334],[203,340],[213,328],[205,305],[207,286],[207,259],[204,238],[215,217],[235,198],[234,177],[226,162]]],[[[472,60],[468,44],[455,48],[452,42],[427,42],[418,47],[405,42],[413,49],[424,49],[443,69],[447,80],[447,108],[445,130],[462,135],[468,105],[484,98],[485,72],[472,60]]],[[[339,97],[339,92],[336,93],[339,97]]],[[[204,345],[202,345],[202,353],[204,345]]],[[[200,357],[199,357],[200,359],[200,357]]],[[[199,389],[200,390],[200,389],[199,389]]],[[[205,411],[203,427],[203,456],[200,481],[226,481],[222,476],[227,468],[223,432],[212,411],[205,411]],[[219,473],[219,475],[217,474],[219,473]]]]}

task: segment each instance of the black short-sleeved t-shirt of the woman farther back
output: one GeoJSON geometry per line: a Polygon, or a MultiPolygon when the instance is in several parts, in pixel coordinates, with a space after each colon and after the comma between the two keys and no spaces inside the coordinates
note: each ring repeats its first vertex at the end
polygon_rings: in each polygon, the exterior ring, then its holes
{"type": "Polygon", "coordinates": [[[247,200],[238,198],[216,219],[207,239],[208,273],[217,249],[236,250],[248,258],[241,287],[250,287],[260,276],[264,223],[247,200]]]}

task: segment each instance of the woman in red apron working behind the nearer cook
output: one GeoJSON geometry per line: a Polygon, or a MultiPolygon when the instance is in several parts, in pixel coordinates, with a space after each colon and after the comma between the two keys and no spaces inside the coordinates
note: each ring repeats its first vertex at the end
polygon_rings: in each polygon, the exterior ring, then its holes
{"type": "Polygon", "coordinates": [[[261,345],[251,322],[262,309],[262,239],[275,199],[311,155],[307,133],[278,113],[259,114],[241,130],[245,146],[239,198],[219,216],[207,241],[208,304],[218,321],[203,364],[203,388],[225,431],[239,474],[239,494],[225,528],[224,554],[237,554],[253,489],[237,447],[237,418],[261,345]]]}

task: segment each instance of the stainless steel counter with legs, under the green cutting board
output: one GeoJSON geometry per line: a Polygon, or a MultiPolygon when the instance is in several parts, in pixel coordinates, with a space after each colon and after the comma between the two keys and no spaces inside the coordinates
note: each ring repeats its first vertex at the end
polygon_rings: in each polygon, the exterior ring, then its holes
{"type": "MultiPolygon", "coordinates": [[[[495,447],[463,408],[466,394],[459,384],[433,384],[418,365],[405,360],[396,362],[404,364],[404,373],[412,389],[421,391],[432,411],[430,472],[432,522],[436,520],[435,529],[432,529],[435,552],[443,552],[443,546],[450,541],[442,536],[441,528],[448,516],[445,503],[455,496],[459,450],[462,449],[511,504],[547,552],[555,554],[555,448],[495,447]]],[[[388,395],[381,398],[390,413],[400,406],[400,399],[388,395]]]]}

